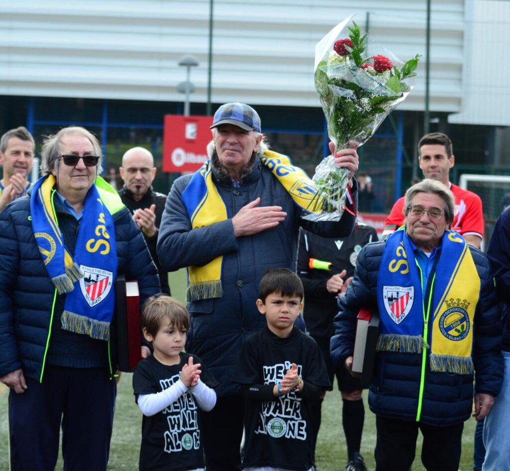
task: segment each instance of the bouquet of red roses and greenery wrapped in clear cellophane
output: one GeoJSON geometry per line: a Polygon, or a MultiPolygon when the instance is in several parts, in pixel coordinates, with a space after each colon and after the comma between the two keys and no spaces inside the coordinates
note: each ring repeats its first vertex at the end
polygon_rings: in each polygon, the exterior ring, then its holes
{"type": "MultiPolygon", "coordinates": [[[[348,28],[348,38],[343,37],[350,19],[338,24],[315,48],[315,88],[335,151],[347,148],[351,140],[362,145],[372,136],[409,95],[418,67],[418,55],[405,64],[380,54],[366,57],[366,35],[361,35],[356,23],[348,28]]],[[[348,174],[336,167],[334,156],[322,160],[313,177],[316,194],[308,207],[311,213],[305,219],[340,219],[348,174]]]]}

